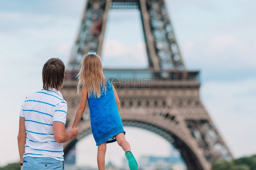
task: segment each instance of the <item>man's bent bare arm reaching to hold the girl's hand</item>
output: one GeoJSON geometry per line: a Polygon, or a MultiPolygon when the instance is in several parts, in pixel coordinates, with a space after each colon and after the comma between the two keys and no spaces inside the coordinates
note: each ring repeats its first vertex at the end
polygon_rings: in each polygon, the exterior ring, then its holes
{"type": "Polygon", "coordinates": [[[53,136],[58,143],[68,142],[70,139],[76,139],[78,135],[78,128],[69,128],[65,130],[65,125],[62,122],[53,122],[53,136]]]}

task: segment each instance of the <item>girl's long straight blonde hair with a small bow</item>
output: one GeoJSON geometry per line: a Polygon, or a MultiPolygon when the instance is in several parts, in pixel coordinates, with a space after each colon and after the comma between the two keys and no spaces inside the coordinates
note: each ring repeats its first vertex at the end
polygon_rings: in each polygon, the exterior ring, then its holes
{"type": "Polygon", "coordinates": [[[99,55],[89,54],[85,55],[82,60],[82,66],[77,74],[78,85],[77,92],[82,89],[83,85],[88,90],[88,97],[93,95],[99,98],[102,91],[106,92],[106,78],[102,71],[102,63],[99,55]]]}

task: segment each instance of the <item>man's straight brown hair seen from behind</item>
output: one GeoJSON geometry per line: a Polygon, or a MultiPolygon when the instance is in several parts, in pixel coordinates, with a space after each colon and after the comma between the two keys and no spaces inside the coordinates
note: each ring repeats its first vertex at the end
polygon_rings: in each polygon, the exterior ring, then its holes
{"type": "Polygon", "coordinates": [[[65,65],[59,58],[50,58],[43,65],[43,88],[60,90],[64,81],[65,65]]]}

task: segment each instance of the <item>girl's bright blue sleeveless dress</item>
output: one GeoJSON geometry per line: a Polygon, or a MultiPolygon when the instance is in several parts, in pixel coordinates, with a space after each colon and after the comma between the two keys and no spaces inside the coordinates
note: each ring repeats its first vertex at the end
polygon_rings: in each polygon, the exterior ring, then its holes
{"type": "Polygon", "coordinates": [[[115,142],[115,135],[124,133],[121,117],[119,115],[112,83],[107,80],[106,93],[102,91],[99,98],[88,96],[90,109],[90,123],[96,146],[107,141],[115,142]]]}

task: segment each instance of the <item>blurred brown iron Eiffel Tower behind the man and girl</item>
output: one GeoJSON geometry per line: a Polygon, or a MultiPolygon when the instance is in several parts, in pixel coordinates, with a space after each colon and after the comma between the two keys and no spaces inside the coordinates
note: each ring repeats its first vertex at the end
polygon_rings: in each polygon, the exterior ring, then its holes
{"type": "MultiPolygon", "coordinates": [[[[87,0],[61,90],[68,102],[66,126],[72,125],[80,102],[75,77],[79,62],[87,52],[101,55],[111,9],[141,12],[149,61],[147,69],[103,70],[119,89],[123,125],[147,129],[168,140],[180,151],[189,170],[209,170],[217,159],[232,159],[199,98],[199,72],[188,71],[184,65],[164,0],[87,0]],[[127,91],[124,80],[135,83],[135,79],[137,91],[127,91]]],[[[91,134],[88,113],[87,106],[79,122],[80,134],[64,144],[65,154],[91,134]]]]}

